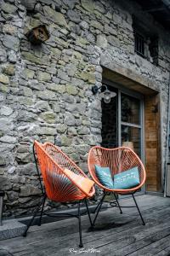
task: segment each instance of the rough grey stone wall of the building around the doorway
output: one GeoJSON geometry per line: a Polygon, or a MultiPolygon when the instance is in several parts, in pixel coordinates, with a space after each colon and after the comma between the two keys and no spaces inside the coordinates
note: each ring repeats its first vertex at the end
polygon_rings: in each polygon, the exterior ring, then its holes
{"type": "Polygon", "coordinates": [[[35,139],[59,145],[87,170],[88,149],[101,143],[100,99],[91,92],[102,82],[101,61],[113,61],[160,86],[166,147],[169,34],[132,3],[0,1],[0,189],[6,191],[6,215],[30,213],[39,201],[31,154],[35,139]],[[157,67],[134,53],[134,13],[159,35],[157,67]],[[50,38],[33,46],[26,32],[40,24],[48,27],[50,38]]]}

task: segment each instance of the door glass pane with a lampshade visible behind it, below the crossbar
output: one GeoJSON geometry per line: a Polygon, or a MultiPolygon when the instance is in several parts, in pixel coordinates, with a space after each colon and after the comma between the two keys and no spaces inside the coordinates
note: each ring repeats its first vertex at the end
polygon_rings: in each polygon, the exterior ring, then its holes
{"type": "Polygon", "coordinates": [[[122,145],[133,147],[134,152],[141,157],[140,128],[122,125],[122,145]]]}

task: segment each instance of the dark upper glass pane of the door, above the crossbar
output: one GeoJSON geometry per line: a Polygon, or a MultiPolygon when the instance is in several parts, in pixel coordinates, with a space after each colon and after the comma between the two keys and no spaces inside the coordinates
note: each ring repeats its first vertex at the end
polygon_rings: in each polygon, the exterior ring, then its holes
{"type": "Polygon", "coordinates": [[[121,95],[122,122],[140,124],[140,101],[132,96],[121,95]]]}

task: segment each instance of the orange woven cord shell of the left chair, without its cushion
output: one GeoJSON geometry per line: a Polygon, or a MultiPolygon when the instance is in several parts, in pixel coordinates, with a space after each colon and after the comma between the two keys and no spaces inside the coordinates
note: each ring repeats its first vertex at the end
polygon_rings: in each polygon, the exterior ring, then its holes
{"type": "Polygon", "coordinates": [[[91,196],[94,188],[88,194],[83,189],[77,188],[77,185],[65,176],[64,170],[69,169],[77,175],[87,177],[60,148],[52,143],[41,144],[37,141],[34,143],[34,148],[49,199],[53,201],[73,201],[82,199],[83,196],[91,196]]]}

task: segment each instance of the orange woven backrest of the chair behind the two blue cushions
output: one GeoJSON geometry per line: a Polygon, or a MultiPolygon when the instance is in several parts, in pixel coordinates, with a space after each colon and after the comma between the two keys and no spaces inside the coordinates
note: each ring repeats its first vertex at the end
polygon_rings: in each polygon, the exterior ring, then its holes
{"type": "Polygon", "coordinates": [[[100,186],[101,183],[96,176],[94,165],[110,167],[112,177],[116,173],[124,172],[137,166],[139,169],[140,187],[145,182],[144,165],[139,159],[139,156],[135,154],[131,148],[102,148],[95,146],[90,149],[88,154],[88,170],[94,182],[98,183],[100,186]]]}

